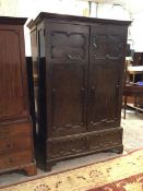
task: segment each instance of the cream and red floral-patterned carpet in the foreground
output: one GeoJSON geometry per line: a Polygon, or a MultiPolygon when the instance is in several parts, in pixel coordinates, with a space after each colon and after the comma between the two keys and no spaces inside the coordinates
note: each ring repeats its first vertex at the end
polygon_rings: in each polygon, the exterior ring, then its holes
{"type": "Polygon", "coordinates": [[[143,191],[143,150],[0,191],[143,191]]]}

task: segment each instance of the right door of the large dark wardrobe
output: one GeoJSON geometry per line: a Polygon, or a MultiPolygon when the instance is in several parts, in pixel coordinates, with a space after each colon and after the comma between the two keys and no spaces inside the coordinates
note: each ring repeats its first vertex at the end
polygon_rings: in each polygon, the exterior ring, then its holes
{"type": "Polygon", "coordinates": [[[91,31],[87,128],[120,123],[121,84],[127,29],[96,24],[91,31]]]}

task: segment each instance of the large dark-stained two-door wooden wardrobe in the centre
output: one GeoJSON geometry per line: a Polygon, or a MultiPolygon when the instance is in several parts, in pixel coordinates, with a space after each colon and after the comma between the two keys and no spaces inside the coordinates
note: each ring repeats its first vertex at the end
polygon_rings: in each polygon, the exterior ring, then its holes
{"type": "Polygon", "coordinates": [[[29,22],[38,80],[38,141],[46,169],[60,160],[121,153],[128,21],[40,13],[29,22]]]}

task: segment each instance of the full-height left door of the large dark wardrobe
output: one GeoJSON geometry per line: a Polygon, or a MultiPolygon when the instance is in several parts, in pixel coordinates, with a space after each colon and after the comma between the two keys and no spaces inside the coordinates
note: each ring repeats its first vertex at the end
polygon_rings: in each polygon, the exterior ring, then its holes
{"type": "Polygon", "coordinates": [[[49,26],[46,38],[50,52],[47,55],[48,133],[59,136],[85,132],[88,26],[68,23],[49,26]]]}

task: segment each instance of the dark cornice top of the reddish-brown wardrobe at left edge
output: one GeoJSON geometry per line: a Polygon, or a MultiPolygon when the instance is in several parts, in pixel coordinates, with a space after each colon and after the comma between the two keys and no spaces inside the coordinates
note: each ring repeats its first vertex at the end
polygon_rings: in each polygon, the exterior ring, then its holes
{"type": "Polygon", "coordinates": [[[26,17],[0,16],[0,24],[24,25],[26,17]]]}

